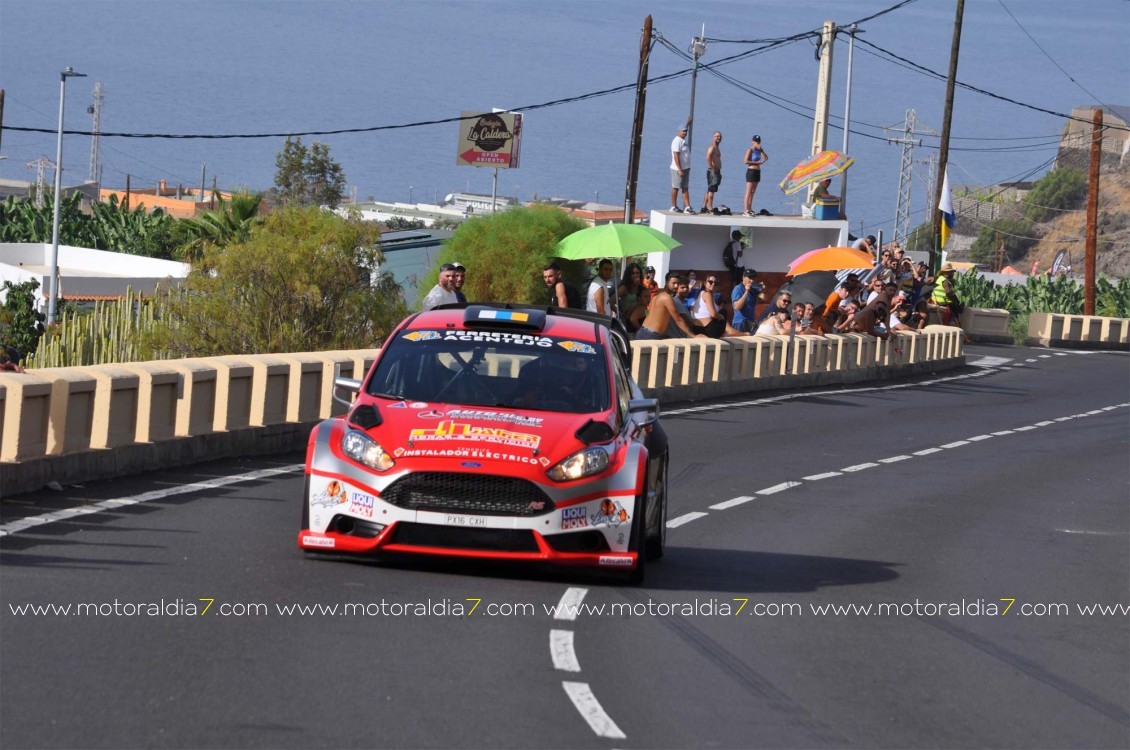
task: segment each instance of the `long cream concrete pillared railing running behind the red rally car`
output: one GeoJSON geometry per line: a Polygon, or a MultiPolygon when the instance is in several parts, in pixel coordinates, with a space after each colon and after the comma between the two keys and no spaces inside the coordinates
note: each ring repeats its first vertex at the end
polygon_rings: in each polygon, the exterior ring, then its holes
{"type": "MultiPolygon", "coordinates": [[[[1125,328],[1109,325],[1124,339],[1125,328]]],[[[1088,329],[1089,331],[1090,329],[1088,329]]],[[[632,343],[645,394],[694,401],[958,366],[958,329],[632,343]]],[[[0,494],[201,461],[296,450],[345,407],[333,376],[363,378],[374,349],[207,357],[0,374],[0,494]],[[105,459],[114,451],[115,460],[105,459]]],[[[503,365],[499,365],[499,370],[503,365]]],[[[508,366],[513,374],[513,364],[508,366]]],[[[503,373],[499,372],[499,375],[503,373]]]]}

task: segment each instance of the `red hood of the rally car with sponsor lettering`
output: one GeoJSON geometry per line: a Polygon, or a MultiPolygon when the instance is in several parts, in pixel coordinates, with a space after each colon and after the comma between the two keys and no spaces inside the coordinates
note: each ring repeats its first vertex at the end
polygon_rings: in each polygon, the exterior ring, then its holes
{"type": "Polygon", "coordinates": [[[424,402],[377,401],[381,425],[368,434],[398,464],[549,468],[584,447],[576,430],[610,412],[573,415],[424,402]]]}

